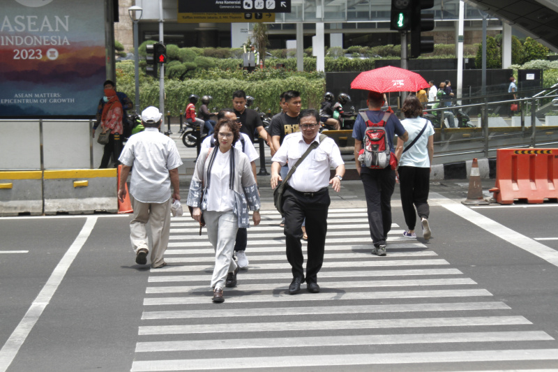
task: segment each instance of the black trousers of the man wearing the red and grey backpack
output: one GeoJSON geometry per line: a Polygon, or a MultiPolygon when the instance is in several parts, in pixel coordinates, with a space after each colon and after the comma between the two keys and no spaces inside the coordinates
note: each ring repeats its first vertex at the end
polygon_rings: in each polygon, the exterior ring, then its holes
{"type": "MultiPolygon", "coordinates": [[[[392,155],[393,156],[393,155],[392,155]]],[[[391,230],[391,195],[395,189],[395,170],[369,169],[361,172],[364,185],[368,225],[374,246],[386,244],[391,230]]]]}

